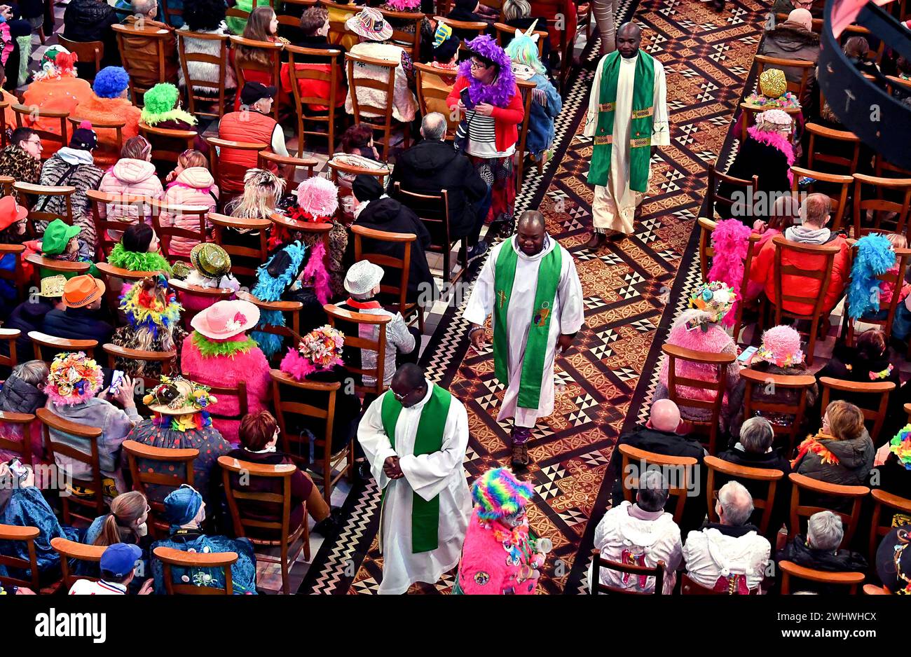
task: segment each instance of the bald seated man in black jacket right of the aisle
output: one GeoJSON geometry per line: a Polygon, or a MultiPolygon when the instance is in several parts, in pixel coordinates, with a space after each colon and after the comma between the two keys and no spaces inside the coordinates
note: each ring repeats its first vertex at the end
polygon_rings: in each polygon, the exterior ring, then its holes
{"type": "MultiPolygon", "coordinates": [[[[651,405],[649,421],[644,427],[638,427],[631,433],[619,437],[618,447],[621,444],[630,445],[640,450],[652,451],[656,454],[665,456],[683,456],[692,457],[697,461],[699,466],[705,457],[705,450],[695,435],[681,435],[678,433],[681,427],[681,411],[670,399],[658,399],[651,405]]],[[[623,481],[628,476],[627,472],[621,472],[623,457],[619,450],[614,450],[613,457],[610,460],[610,471],[614,476],[613,488],[613,505],[619,506],[624,500],[623,481]]],[[[683,517],[681,518],[681,527],[683,531],[696,529],[705,517],[705,469],[697,467],[699,481],[693,480],[694,473],[688,473],[688,480],[691,480],[693,497],[686,500],[683,508],[683,517]]],[[[668,500],[666,509],[671,512],[677,504],[677,498],[671,497],[668,500]]]]}

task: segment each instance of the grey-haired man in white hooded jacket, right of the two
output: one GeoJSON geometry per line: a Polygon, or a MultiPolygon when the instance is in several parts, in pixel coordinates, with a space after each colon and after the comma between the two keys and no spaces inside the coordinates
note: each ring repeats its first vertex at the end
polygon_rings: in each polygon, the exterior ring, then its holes
{"type": "Polygon", "coordinates": [[[691,531],[683,545],[687,575],[706,589],[747,595],[765,577],[772,545],[748,524],[752,515],[750,491],[728,481],[715,501],[718,522],[691,531]]]}

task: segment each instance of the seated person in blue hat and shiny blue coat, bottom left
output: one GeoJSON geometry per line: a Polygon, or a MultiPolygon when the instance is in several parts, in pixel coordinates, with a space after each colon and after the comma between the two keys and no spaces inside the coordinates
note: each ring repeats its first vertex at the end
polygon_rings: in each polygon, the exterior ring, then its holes
{"type": "MultiPolygon", "coordinates": [[[[155,558],[156,548],[173,548],[185,552],[237,552],[238,559],[230,566],[231,584],[235,595],[256,594],[256,554],[247,539],[229,539],[227,536],[209,536],[202,531],[206,520],[206,504],[199,492],[183,484],[165,498],[165,517],[170,524],[167,539],[155,541],[149,548],[152,577],[155,579],[155,593],[167,592],[164,580],[164,566],[155,558]]],[[[174,583],[192,583],[196,586],[224,588],[224,569],[187,569],[172,567],[174,583]]]]}

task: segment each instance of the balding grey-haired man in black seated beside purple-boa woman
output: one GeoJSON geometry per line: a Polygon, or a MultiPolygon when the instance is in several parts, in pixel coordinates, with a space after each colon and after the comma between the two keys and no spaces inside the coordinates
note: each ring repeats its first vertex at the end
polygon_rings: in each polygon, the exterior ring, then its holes
{"type": "Polygon", "coordinates": [[[446,117],[431,112],[421,122],[421,136],[415,146],[396,158],[389,177],[388,191],[395,183],[415,194],[439,194],[446,190],[449,203],[449,238],[468,238],[468,262],[487,252],[487,243],[478,241],[487,210],[490,187],[477,173],[468,157],[445,142],[446,117]]]}

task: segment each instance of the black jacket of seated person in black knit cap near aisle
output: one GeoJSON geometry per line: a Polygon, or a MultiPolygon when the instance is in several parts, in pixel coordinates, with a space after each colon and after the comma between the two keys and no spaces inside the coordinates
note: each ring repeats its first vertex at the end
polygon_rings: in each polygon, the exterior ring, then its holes
{"type": "MultiPolygon", "coordinates": [[[[414,233],[417,241],[411,248],[411,268],[408,274],[408,301],[416,301],[422,290],[432,290],[434,277],[430,274],[425,250],[430,246],[430,233],[424,223],[407,207],[394,198],[379,198],[371,201],[361,210],[354,224],[390,233],[414,233]]],[[[404,258],[404,244],[392,242],[374,242],[363,240],[363,250],[367,253],[379,253],[393,258],[404,258]]],[[[345,269],[354,262],[354,240],[348,240],[345,253],[345,269]]],[[[398,269],[385,268],[384,285],[399,285],[398,269]]]]}

